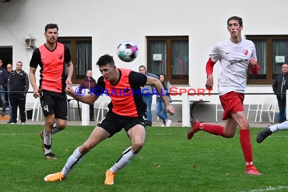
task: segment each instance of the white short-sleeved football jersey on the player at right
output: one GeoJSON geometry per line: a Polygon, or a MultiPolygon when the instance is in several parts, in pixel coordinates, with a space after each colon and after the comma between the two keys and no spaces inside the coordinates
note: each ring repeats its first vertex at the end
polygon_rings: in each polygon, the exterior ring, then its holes
{"type": "Polygon", "coordinates": [[[251,40],[233,43],[230,39],[218,42],[209,54],[213,62],[219,61],[219,95],[230,91],[244,93],[249,59],[255,58],[256,49],[251,40]]]}

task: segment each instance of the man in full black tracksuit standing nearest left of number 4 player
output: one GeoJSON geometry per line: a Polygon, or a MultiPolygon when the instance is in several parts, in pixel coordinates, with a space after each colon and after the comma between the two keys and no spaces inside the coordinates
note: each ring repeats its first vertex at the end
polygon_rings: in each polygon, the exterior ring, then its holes
{"type": "Polygon", "coordinates": [[[8,79],[8,91],[25,91],[25,92],[11,92],[9,93],[9,101],[12,107],[12,122],[17,123],[17,110],[21,116],[21,124],[25,125],[26,122],[26,92],[29,89],[29,78],[26,72],[22,70],[22,62],[18,61],[16,70],[12,71],[8,79]]]}

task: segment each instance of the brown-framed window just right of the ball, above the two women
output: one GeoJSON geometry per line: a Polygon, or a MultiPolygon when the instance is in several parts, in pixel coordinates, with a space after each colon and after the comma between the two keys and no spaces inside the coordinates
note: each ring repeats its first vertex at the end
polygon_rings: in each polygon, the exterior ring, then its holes
{"type": "Polygon", "coordinates": [[[188,36],[148,36],[147,70],[167,75],[171,84],[189,81],[188,36]]]}

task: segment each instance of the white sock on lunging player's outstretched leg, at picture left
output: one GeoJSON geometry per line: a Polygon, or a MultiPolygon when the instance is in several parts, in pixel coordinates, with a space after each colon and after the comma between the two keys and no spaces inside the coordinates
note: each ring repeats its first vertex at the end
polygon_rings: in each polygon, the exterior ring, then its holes
{"type": "Polygon", "coordinates": [[[68,158],[65,166],[62,169],[62,175],[66,177],[70,171],[83,159],[85,154],[79,152],[79,147],[73,152],[73,154],[68,158]]]}

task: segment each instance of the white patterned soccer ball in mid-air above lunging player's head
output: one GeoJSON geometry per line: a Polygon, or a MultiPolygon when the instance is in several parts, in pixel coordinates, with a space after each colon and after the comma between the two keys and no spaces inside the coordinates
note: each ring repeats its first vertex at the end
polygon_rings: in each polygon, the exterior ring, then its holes
{"type": "Polygon", "coordinates": [[[131,62],[138,55],[138,47],[131,41],[123,41],[117,48],[118,57],[125,62],[131,62]]]}

